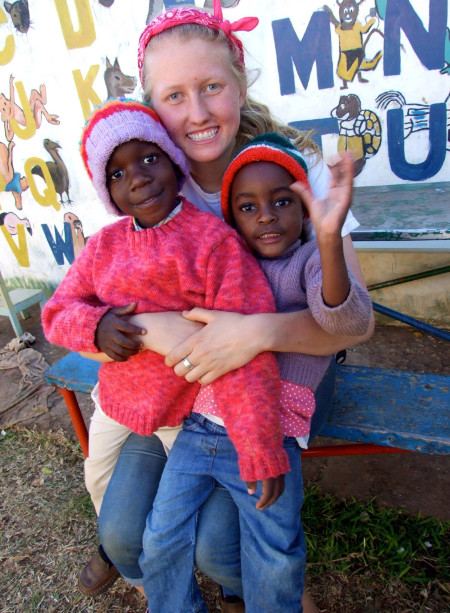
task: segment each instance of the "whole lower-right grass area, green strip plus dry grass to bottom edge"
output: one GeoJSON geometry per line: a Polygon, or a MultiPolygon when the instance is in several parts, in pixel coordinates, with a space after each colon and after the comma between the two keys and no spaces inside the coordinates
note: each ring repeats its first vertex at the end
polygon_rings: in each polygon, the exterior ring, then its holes
{"type": "MultiPolygon", "coordinates": [[[[334,583],[338,601],[342,588],[347,592],[346,585],[359,585],[355,591],[366,592],[364,613],[450,611],[449,522],[410,517],[401,510],[377,507],[375,500],[339,500],[317,487],[305,494],[302,518],[307,578],[317,601],[322,600],[317,582],[328,577],[333,579],[329,592],[334,583]]],[[[340,606],[342,602],[331,608],[328,604],[326,610],[359,611],[340,606]]]]}

